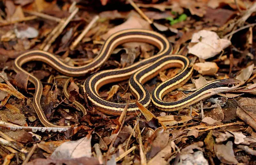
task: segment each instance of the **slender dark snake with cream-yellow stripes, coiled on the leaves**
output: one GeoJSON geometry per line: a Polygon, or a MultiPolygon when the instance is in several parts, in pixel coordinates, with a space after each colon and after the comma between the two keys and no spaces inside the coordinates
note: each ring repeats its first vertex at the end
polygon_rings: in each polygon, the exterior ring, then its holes
{"type": "MultiPolygon", "coordinates": [[[[108,115],[120,115],[126,105],[124,103],[110,102],[100,97],[100,88],[108,83],[120,82],[129,79],[130,90],[141,105],[147,108],[152,102],[162,111],[177,111],[214,94],[234,90],[240,85],[239,80],[232,78],[215,80],[178,101],[164,102],[163,97],[166,93],[184,85],[193,74],[193,66],[190,65],[188,57],[179,54],[172,54],[172,50],[172,45],[168,39],[158,32],[144,29],[126,29],[109,36],[101,46],[98,55],[86,65],[69,66],[54,54],[42,50],[31,50],[21,54],[14,60],[13,70],[16,73],[25,72],[28,74],[28,80],[34,84],[35,94],[32,106],[36,111],[40,122],[45,127],[60,126],[49,122],[45,117],[44,111],[40,105],[43,85],[34,75],[28,73],[22,68],[22,65],[29,61],[41,61],[47,63],[61,74],[67,76],[79,77],[89,75],[84,81],[84,93],[97,110],[108,115]],[[103,66],[104,62],[108,60],[109,56],[117,46],[126,42],[144,42],[151,44],[157,47],[158,53],[124,68],[95,72],[103,66]],[[143,84],[157,76],[160,71],[172,67],[181,68],[180,73],[171,79],[160,83],[160,85],[156,86],[152,91],[152,94],[150,94],[143,84]]],[[[67,95],[67,92],[65,91],[66,89],[64,89],[64,93],[67,95]]],[[[75,104],[81,107],[77,102],[75,104]]],[[[83,108],[81,107],[80,109],[83,108]]],[[[139,107],[135,102],[128,103],[128,114],[135,114],[138,111],[139,107]]]]}

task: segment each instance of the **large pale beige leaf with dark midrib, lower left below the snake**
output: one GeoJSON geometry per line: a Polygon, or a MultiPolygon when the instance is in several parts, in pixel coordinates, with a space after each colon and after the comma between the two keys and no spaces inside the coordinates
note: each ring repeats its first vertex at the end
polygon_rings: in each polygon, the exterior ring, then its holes
{"type": "Polygon", "coordinates": [[[51,159],[92,157],[91,134],[76,141],[62,143],[50,156],[51,159]]]}

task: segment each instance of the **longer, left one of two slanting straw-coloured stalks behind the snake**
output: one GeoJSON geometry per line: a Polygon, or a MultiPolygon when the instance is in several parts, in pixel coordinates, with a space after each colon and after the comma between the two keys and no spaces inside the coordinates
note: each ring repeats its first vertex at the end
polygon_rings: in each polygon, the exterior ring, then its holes
{"type": "MultiPolygon", "coordinates": [[[[66,21],[61,24],[60,28],[58,29],[58,31],[50,38],[49,42],[47,43],[47,45],[43,48],[44,51],[47,51],[52,43],[55,41],[55,39],[60,35],[60,33],[65,29],[65,27],[68,25],[68,23],[71,21],[72,18],[75,17],[76,13],[78,12],[78,8],[76,8],[71,14],[70,16],[66,19],[66,21]]],[[[59,26],[58,26],[59,27],[59,26]]]]}

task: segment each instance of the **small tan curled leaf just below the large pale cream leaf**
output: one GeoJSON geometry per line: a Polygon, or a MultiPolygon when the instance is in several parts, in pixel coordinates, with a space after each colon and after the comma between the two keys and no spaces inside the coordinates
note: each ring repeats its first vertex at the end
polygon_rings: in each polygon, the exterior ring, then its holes
{"type": "Polygon", "coordinates": [[[214,75],[218,72],[219,67],[215,62],[199,62],[194,64],[194,69],[202,75],[214,75]]]}

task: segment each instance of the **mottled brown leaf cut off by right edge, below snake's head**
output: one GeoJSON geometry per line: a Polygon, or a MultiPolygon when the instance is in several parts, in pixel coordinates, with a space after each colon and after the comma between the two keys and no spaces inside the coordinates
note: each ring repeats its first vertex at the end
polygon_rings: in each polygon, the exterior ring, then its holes
{"type": "Polygon", "coordinates": [[[236,115],[246,124],[256,130],[256,103],[255,99],[241,98],[238,101],[236,115]],[[241,106],[241,107],[240,107],[241,106]]]}

